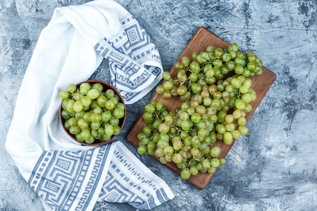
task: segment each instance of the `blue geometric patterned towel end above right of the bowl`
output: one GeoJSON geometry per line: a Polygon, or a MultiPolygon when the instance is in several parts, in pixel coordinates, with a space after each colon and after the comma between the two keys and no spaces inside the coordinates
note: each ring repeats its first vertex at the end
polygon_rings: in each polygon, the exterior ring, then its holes
{"type": "Polygon", "coordinates": [[[120,21],[124,30],[99,40],[94,48],[108,60],[111,85],[122,91],[126,101],[130,101],[144,91],[148,83],[161,77],[163,70],[158,67],[161,65],[143,64],[146,61],[161,64],[161,57],[138,21],[131,14],[120,21]]]}

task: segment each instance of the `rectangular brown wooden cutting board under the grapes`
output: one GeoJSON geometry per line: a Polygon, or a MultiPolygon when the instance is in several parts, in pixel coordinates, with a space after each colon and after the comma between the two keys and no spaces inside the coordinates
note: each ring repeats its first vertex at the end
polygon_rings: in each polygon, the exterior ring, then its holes
{"type": "MultiPolygon", "coordinates": [[[[192,39],[190,40],[187,47],[184,49],[184,51],[180,55],[178,61],[180,61],[183,56],[187,56],[191,59],[192,52],[206,51],[206,48],[208,46],[214,46],[216,48],[226,48],[229,46],[229,44],[226,41],[219,38],[217,35],[213,34],[209,30],[207,30],[206,28],[200,27],[196,31],[196,33],[194,34],[192,39]]],[[[271,71],[269,71],[268,69],[266,69],[265,67],[262,67],[262,69],[263,69],[263,74],[261,76],[251,77],[252,88],[257,93],[257,100],[250,103],[253,106],[253,110],[251,112],[247,113],[247,115],[246,115],[247,120],[249,120],[251,118],[254,111],[257,109],[260,102],[262,101],[265,94],[267,93],[267,91],[269,90],[269,88],[271,87],[272,83],[274,82],[274,80],[276,78],[276,75],[274,73],[272,73],[271,71]]],[[[176,76],[177,70],[173,67],[170,70],[170,73],[172,76],[176,76]]],[[[172,99],[170,99],[170,100],[165,100],[159,94],[154,94],[154,96],[152,97],[151,100],[157,100],[157,101],[162,102],[164,105],[167,106],[168,111],[172,111],[176,107],[179,107],[182,104],[182,101],[180,101],[178,97],[172,97],[172,99]]],[[[127,136],[127,140],[129,142],[131,142],[136,147],[139,146],[138,145],[139,140],[137,138],[137,134],[141,133],[143,131],[143,127],[146,126],[146,123],[142,119],[142,114],[140,115],[139,119],[135,122],[133,128],[131,129],[131,131],[129,132],[129,134],[127,136]]],[[[233,140],[231,145],[225,145],[225,144],[223,144],[222,141],[217,140],[215,142],[215,145],[217,145],[221,148],[221,154],[219,155],[219,157],[224,158],[227,155],[227,153],[229,152],[229,150],[231,149],[234,142],[235,142],[235,140],[233,140]]],[[[148,155],[148,156],[150,156],[150,155],[148,155]]],[[[157,158],[155,156],[151,156],[151,157],[153,157],[158,162],[160,162],[159,158],[157,158]]],[[[151,159],[151,158],[149,158],[149,159],[151,159]]],[[[160,164],[161,164],[161,162],[160,162],[160,164]]],[[[173,162],[168,162],[164,165],[166,165],[172,171],[174,171],[175,173],[180,175],[181,170],[173,162]]],[[[225,165],[223,165],[222,167],[225,167],[225,165]]],[[[212,176],[213,175],[210,175],[208,173],[199,173],[195,176],[190,176],[190,178],[187,181],[190,182],[191,184],[193,184],[194,186],[196,186],[197,188],[204,189],[206,187],[206,185],[209,183],[209,181],[211,180],[212,176]]]]}

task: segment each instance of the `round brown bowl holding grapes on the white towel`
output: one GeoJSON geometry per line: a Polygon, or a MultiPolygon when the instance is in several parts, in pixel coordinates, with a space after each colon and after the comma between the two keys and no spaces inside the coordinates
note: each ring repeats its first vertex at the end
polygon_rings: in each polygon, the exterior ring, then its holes
{"type": "MultiPolygon", "coordinates": [[[[77,85],[76,85],[76,87],[77,87],[77,89],[79,89],[79,87],[80,87],[80,85],[82,84],[82,83],[84,83],[84,82],[88,82],[88,83],[90,83],[92,86],[95,84],[95,83],[101,83],[101,85],[103,86],[103,92],[105,92],[106,90],[108,90],[108,89],[111,89],[111,90],[113,90],[114,91],[114,94],[116,94],[116,95],[118,95],[118,97],[120,98],[120,100],[118,100],[118,102],[120,102],[120,103],[123,103],[124,104],[124,107],[125,107],[125,115],[124,115],[124,117],[122,117],[122,118],[120,118],[119,119],[119,124],[118,124],[118,126],[120,126],[120,129],[122,130],[122,128],[123,128],[123,126],[124,126],[124,123],[125,123],[125,121],[126,121],[126,116],[127,116],[127,114],[126,114],[126,104],[125,104],[125,102],[124,102],[124,99],[122,98],[122,96],[121,96],[121,94],[114,88],[114,87],[112,87],[111,85],[109,85],[108,83],[106,83],[106,82],[103,82],[103,81],[100,81],[100,80],[87,80],[87,81],[83,81],[83,82],[81,82],[81,83],[78,83],[77,85]]],[[[116,135],[112,135],[111,136],[111,138],[109,139],[109,140],[107,140],[107,141],[100,141],[101,139],[95,139],[95,141],[93,142],[93,143],[91,143],[91,144],[89,144],[89,143],[86,143],[85,141],[78,141],[77,139],[76,139],[76,136],[75,135],[73,135],[73,134],[71,134],[66,128],[65,128],[65,119],[62,117],[62,110],[63,110],[63,107],[62,107],[62,103],[61,103],[61,105],[60,105],[60,109],[59,109],[59,118],[60,118],[60,122],[61,122],[61,124],[62,124],[62,126],[63,126],[63,129],[64,129],[64,131],[68,134],[68,136],[72,139],[72,140],[74,140],[75,142],[78,142],[78,143],[81,143],[82,145],[87,145],[87,146],[99,146],[99,145],[103,145],[103,144],[106,144],[106,143],[109,143],[110,141],[112,141],[113,139],[114,139],[114,137],[116,136],[116,135]]]]}

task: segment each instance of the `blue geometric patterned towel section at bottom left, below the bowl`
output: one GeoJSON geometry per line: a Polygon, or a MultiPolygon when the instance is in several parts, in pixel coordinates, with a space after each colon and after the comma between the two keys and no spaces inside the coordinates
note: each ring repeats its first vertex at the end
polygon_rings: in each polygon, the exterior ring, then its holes
{"type": "Polygon", "coordinates": [[[110,146],[81,152],[44,151],[28,184],[52,210],[86,210],[89,197],[100,180],[110,146]],[[80,190],[84,191],[78,194],[80,190]],[[77,195],[80,195],[80,200],[74,200],[77,195]],[[77,204],[73,204],[74,201],[77,204]]]}

